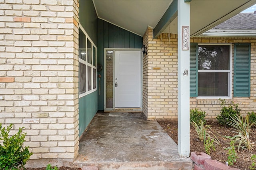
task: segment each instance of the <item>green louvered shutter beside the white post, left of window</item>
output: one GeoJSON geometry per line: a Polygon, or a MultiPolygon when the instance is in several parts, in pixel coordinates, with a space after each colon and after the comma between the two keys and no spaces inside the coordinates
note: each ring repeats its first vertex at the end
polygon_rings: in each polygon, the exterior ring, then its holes
{"type": "Polygon", "coordinates": [[[198,91],[198,44],[190,43],[190,97],[197,97],[198,91]]]}

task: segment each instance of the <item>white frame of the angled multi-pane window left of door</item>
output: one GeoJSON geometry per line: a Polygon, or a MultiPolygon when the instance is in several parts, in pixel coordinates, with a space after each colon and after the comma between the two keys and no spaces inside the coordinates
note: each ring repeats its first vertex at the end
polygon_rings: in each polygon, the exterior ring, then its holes
{"type": "MultiPolygon", "coordinates": [[[[84,96],[86,96],[86,95],[88,95],[92,92],[95,92],[97,90],[97,47],[93,43],[92,39],[90,39],[90,37],[86,33],[85,29],[82,27],[82,25],[80,23],[79,23],[79,29],[81,29],[81,31],[84,33],[84,35],[86,37],[86,48],[82,48],[82,49],[85,49],[85,51],[86,51],[86,61],[84,61],[83,59],[80,59],[80,56],[78,56],[79,57],[79,63],[82,63],[82,64],[86,65],[86,80],[87,80],[87,82],[86,82],[86,87],[85,87],[86,90],[85,90],[84,93],[80,94],[80,86],[79,86],[79,98],[82,98],[82,97],[84,97],[84,96]],[[91,49],[92,49],[92,64],[87,62],[87,59],[88,59],[88,56],[87,56],[88,55],[87,54],[87,51],[88,51],[87,41],[88,40],[92,43],[92,47],[91,47],[91,49]],[[95,66],[93,65],[93,55],[94,55],[93,54],[93,47],[95,48],[95,57],[96,57],[95,66]],[[92,87],[92,89],[91,90],[88,90],[88,66],[92,68],[92,70],[91,70],[91,87],[92,87]],[[93,69],[96,70],[96,74],[95,74],[95,80],[96,80],[96,86],[95,87],[96,88],[95,89],[93,89],[93,87],[94,87],[94,84],[93,84],[93,69]]],[[[79,47],[79,45],[78,45],[78,47],[79,47]]],[[[79,50],[79,55],[80,55],[80,48],[78,50],[79,50]]],[[[79,73],[79,81],[80,81],[80,73],[79,73]]]]}

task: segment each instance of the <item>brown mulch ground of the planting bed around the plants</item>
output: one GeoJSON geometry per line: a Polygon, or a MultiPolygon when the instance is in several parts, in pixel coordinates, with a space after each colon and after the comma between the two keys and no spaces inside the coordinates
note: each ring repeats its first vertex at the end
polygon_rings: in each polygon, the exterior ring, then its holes
{"type": "MultiPolygon", "coordinates": [[[[176,143],[178,143],[177,121],[164,120],[164,121],[158,121],[158,123],[170,135],[170,137],[176,143]]],[[[230,128],[221,126],[217,122],[208,122],[208,125],[211,125],[212,133],[214,133],[220,141],[220,145],[216,145],[216,151],[211,150],[210,156],[212,157],[212,159],[218,160],[225,164],[225,162],[228,160],[227,159],[228,150],[225,150],[225,148],[230,147],[230,140],[224,138],[223,136],[233,136],[234,133],[230,132],[231,130],[230,128]]],[[[256,141],[256,128],[252,128],[250,139],[253,142],[256,141]]],[[[196,137],[196,131],[192,126],[190,126],[190,152],[193,152],[193,151],[205,152],[203,142],[198,140],[198,137],[196,137]]],[[[256,154],[256,147],[254,150],[250,152],[248,151],[237,152],[237,155],[238,155],[238,158],[236,159],[237,162],[231,167],[239,168],[241,170],[250,170],[249,167],[252,165],[252,161],[251,161],[252,154],[256,154]]]]}

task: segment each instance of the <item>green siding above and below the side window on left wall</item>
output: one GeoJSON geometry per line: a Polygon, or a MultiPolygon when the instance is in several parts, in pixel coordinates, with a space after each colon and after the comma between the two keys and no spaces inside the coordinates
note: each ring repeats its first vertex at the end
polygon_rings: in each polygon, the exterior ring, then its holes
{"type": "MultiPolygon", "coordinates": [[[[92,0],[79,1],[79,22],[98,47],[98,17],[92,0]]],[[[97,91],[79,98],[79,136],[98,111],[97,91]]]]}

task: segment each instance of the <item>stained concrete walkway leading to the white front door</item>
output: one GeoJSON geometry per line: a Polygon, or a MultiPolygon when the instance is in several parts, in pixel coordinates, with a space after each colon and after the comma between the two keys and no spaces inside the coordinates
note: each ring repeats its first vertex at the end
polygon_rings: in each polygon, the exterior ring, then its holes
{"type": "Polygon", "coordinates": [[[180,158],[176,143],[143,113],[97,113],[74,164],[99,170],[192,169],[190,158],[180,158]]]}

